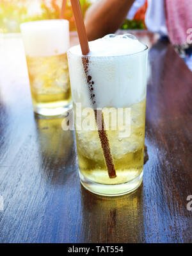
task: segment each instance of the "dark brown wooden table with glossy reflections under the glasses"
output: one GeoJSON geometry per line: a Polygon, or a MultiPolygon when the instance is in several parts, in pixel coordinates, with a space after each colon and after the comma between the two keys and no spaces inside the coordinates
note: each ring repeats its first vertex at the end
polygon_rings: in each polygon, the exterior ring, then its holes
{"type": "Polygon", "coordinates": [[[81,187],[74,132],[33,115],[21,39],[0,39],[1,243],[192,242],[192,73],[170,44],[142,38],[149,160],[140,189],[120,198],[81,187]]]}

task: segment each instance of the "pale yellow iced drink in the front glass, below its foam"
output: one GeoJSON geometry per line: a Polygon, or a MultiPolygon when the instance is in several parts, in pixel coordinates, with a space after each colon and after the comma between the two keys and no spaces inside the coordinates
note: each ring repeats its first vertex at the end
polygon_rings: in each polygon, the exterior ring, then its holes
{"type": "MultiPolygon", "coordinates": [[[[120,137],[121,128],[112,130],[109,120],[108,140],[113,156],[116,178],[109,178],[97,130],[76,129],[77,153],[81,175],[87,180],[106,185],[122,184],[134,180],[143,171],[145,137],[145,102],[131,105],[131,134],[120,137]]],[[[76,108],[74,107],[75,120],[76,108]]],[[[103,112],[104,121],[107,121],[103,112]]],[[[93,122],[95,121],[92,115],[93,122]]]]}

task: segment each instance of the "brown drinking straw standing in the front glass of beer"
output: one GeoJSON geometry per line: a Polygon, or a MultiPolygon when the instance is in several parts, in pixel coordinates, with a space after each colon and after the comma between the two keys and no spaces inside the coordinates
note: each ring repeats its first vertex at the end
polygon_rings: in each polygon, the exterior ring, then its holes
{"type": "MultiPolygon", "coordinates": [[[[90,48],[88,45],[88,38],[87,38],[86,30],[84,27],[83,15],[81,12],[81,5],[79,3],[79,0],[71,0],[71,5],[72,5],[72,10],[74,12],[77,33],[79,36],[79,42],[80,42],[82,54],[88,55],[90,48]]],[[[90,99],[91,99],[92,105],[94,107],[96,104],[95,94],[93,93],[94,81],[92,80],[92,76],[90,76],[90,74],[88,73],[88,64],[89,64],[88,56],[82,57],[82,63],[83,63],[83,67],[84,67],[84,73],[86,75],[86,80],[88,83],[88,89],[90,90],[90,99]]],[[[113,157],[111,155],[111,149],[109,146],[108,135],[107,135],[105,127],[104,127],[104,118],[102,115],[102,110],[94,109],[94,113],[95,113],[95,121],[97,124],[98,133],[99,133],[100,144],[101,144],[102,151],[104,154],[106,166],[108,168],[108,175],[109,175],[109,178],[115,178],[116,177],[115,165],[113,163],[113,157]],[[99,118],[99,117],[101,117],[101,118],[99,118]]]]}

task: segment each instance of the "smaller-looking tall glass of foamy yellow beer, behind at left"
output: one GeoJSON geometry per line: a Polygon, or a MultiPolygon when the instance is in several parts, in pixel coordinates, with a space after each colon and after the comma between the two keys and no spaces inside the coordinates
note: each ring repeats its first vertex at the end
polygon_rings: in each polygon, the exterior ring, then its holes
{"type": "Polygon", "coordinates": [[[71,105],[66,20],[25,22],[20,25],[33,109],[36,114],[63,114],[71,105]]]}

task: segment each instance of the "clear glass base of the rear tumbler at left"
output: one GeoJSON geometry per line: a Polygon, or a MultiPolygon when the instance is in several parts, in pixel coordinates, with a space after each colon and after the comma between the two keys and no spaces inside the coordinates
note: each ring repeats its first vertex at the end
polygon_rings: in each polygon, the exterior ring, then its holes
{"type": "Polygon", "coordinates": [[[34,107],[35,114],[43,115],[45,117],[52,117],[56,115],[63,115],[65,112],[70,110],[72,108],[72,103],[69,103],[68,105],[65,105],[63,107],[58,108],[40,108],[40,107],[34,107]]]}

